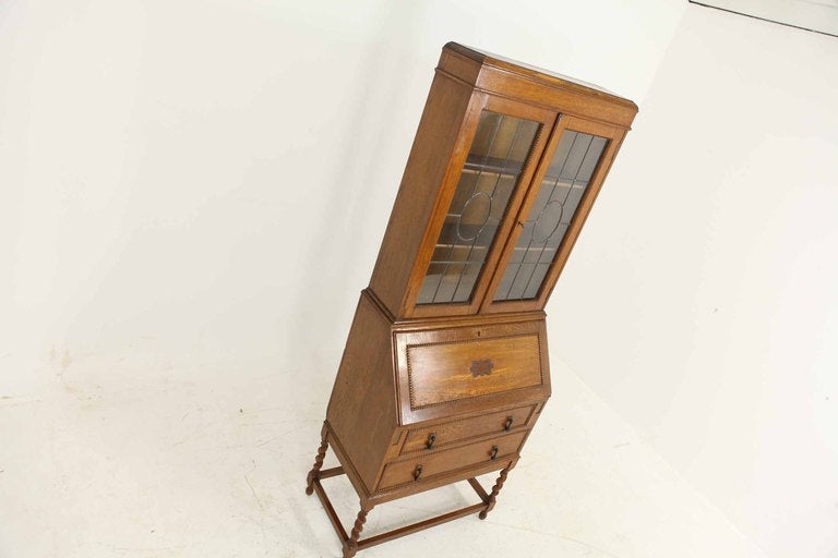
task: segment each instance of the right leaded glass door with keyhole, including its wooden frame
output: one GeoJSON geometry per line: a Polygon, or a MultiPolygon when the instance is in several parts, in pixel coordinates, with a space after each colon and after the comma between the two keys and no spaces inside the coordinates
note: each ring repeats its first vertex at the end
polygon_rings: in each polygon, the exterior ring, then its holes
{"type": "Polygon", "coordinates": [[[486,310],[543,306],[623,135],[613,126],[560,119],[498,266],[486,310]]]}

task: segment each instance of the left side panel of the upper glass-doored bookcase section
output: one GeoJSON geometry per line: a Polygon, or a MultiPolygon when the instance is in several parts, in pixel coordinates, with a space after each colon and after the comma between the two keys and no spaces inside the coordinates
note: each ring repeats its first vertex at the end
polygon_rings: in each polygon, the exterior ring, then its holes
{"type": "MultiPolygon", "coordinates": [[[[460,126],[471,88],[438,73],[419,122],[370,287],[398,316],[448,162],[465,149],[460,126]]],[[[442,211],[445,208],[440,209],[442,211]]]]}

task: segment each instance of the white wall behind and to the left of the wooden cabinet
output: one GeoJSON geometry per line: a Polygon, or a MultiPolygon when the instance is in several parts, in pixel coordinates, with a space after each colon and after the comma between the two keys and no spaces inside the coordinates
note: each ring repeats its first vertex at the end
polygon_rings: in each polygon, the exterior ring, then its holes
{"type": "MultiPolygon", "coordinates": [[[[0,7],[0,366],[334,367],[440,49],[645,95],[666,0],[0,7]],[[602,14],[610,14],[602,19],[602,14]]],[[[201,376],[195,376],[200,378],[201,376]]]]}

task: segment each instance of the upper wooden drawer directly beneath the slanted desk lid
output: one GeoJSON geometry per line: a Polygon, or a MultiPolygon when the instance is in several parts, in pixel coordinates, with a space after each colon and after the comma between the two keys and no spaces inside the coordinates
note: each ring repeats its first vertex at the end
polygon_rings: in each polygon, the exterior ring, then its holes
{"type": "Polygon", "coordinates": [[[487,434],[500,435],[508,429],[518,429],[522,426],[526,426],[534,408],[535,405],[520,407],[507,411],[498,411],[483,416],[459,418],[410,430],[402,447],[402,453],[428,451],[429,449],[441,448],[466,438],[484,436],[487,434]],[[431,448],[429,448],[428,445],[431,440],[431,448]]]}

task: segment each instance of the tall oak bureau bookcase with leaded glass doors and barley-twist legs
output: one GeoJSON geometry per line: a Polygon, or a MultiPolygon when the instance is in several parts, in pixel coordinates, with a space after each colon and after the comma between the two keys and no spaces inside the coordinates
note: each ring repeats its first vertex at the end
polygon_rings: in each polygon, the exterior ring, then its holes
{"type": "Polygon", "coordinates": [[[544,304],[637,107],[443,48],[308,476],[344,555],[494,507],[550,397],[544,304]],[[331,447],[339,468],[322,470],[331,447]],[[487,493],[475,476],[500,471],[487,493]],[[346,474],[347,534],[321,481],[346,474]],[[378,504],[458,481],[480,501],[360,541],[378,504]]]}

